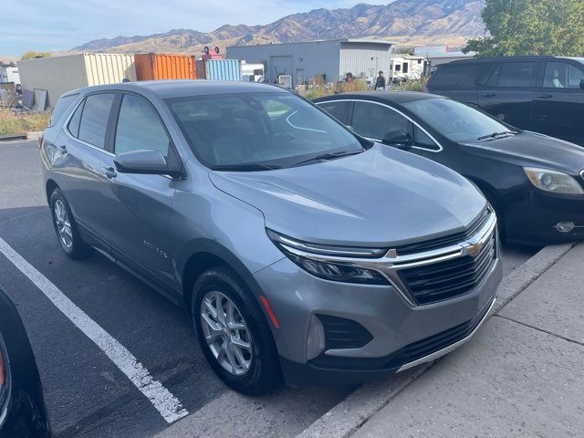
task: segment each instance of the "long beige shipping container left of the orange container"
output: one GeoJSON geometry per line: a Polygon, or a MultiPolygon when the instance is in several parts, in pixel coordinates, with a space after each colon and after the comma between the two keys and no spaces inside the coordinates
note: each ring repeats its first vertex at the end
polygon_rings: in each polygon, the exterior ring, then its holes
{"type": "Polygon", "coordinates": [[[47,110],[72,89],[136,80],[134,56],[113,53],[80,53],[18,61],[23,89],[46,89],[47,110]]]}

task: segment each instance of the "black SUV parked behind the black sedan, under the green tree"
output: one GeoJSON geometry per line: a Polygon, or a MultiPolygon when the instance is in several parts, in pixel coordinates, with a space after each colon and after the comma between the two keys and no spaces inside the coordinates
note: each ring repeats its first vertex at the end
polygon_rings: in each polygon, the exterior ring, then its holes
{"type": "Polygon", "coordinates": [[[495,57],[438,66],[428,91],[523,130],[584,146],[584,57],[495,57]]]}

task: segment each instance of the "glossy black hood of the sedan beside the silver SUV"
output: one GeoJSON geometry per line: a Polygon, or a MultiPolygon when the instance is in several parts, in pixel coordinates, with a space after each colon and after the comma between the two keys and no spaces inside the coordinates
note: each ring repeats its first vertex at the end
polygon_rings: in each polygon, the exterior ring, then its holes
{"type": "Polygon", "coordinates": [[[524,167],[540,167],[572,175],[578,175],[584,169],[584,148],[537,132],[523,131],[495,141],[465,143],[462,147],[485,157],[493,158],[495,154],[524,167]]]}

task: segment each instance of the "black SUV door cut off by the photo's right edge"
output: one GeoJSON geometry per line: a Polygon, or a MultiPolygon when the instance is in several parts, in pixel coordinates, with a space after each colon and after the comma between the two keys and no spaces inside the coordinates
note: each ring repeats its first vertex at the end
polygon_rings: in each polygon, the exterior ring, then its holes
{"type": "Polygon", "coordinates": [[[584,64],[548,60],[538,79],[534,130],[584,145],[584,64]]]}

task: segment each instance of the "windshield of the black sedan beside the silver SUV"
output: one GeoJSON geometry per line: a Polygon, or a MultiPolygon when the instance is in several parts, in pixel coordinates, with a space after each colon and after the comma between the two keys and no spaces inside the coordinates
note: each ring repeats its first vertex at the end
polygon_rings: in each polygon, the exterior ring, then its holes
{"type": "Polygon", "coordinates": [[[451,141],[493,140],[516,133],[481,111],[455,100],[421,99],[404,103],[403,107],[451,141]]]}

